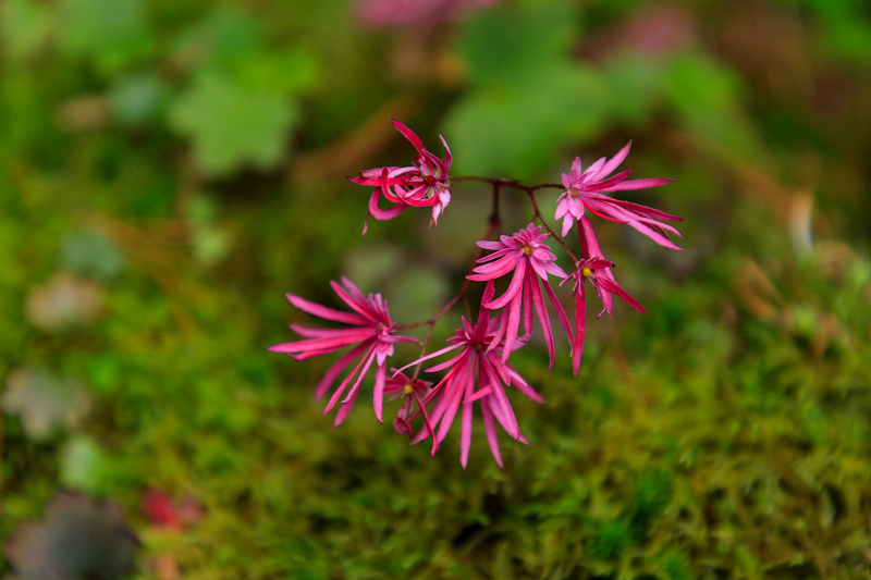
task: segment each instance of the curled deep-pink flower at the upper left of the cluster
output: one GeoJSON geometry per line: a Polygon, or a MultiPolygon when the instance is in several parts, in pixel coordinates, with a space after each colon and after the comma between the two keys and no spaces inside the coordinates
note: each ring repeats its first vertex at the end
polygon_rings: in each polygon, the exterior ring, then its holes
{"type": "MultiPolygon", "coordinates": [[[[430,226],[438,223],[447,203],[451,202],[451,183],[447,171],[451,169],[451,149],[444,137],[439,138],[444,145],[444,160],[439,159],[424,148],[424,143],[415,133],[391,119],[393,126],[412,141],[417,149],[415,164],[406,168],[376,168],[360,172],[359,177],[348,177],[358,185],[372,185],[375,190],[369,198],[369,213],[376,220],[392,220],[409,207],[432,207],[430,226]],[[381,196],[394,203],[382,210],[378,207],[381,196]]],[[[364,227],[363,233],[366,233],[364,227]]]]}

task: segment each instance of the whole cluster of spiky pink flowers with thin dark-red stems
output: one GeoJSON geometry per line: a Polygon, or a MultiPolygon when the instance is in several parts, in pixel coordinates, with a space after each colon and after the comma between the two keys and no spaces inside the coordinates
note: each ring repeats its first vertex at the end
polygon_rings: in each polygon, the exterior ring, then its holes
{"type": "MultiPolygon", "coordinates": [[[[393,120],[396,129],[408,139],[417,150],[414,163],[407,166],[385,166],[363,171],[358,177],[349,177],[353,183],[373,187],[369,199],[369,214],[377,220],[390,220],[412,207],[431,208],[430,225],[438,222],[451,200],[452,180],[451,150],[442,138],[445,149],[444,159],[439,159],[425,147],[421,139],[408,127],[393,120]],[[381,209],[379,201],[385,198],[392,206],[381,209]]],[[[544,215],[536,202],[537,192],[556,185],[528,187],[516,181],[455,177],[453,183],[462,181],[486,182],[493,187],[494,214],[486,239],[478,242],[481,250],[490,254],[476,258],[466,276],[467,282],[461,291],[436,316],[426,321],[397,326],[390,318],[387,301],[380,294],[364,296],[348,280],[342,284],[332,282],[333,291],[345,303],[351,311],[335,310],[327,306],[308,301],[294,294],[287,299],[308,314],[344,324],[342,329],[315,329],[299,324],[291,324],[291,329],[304,340],[278,344],[270,347],[277,353],[286,353],[296,360],[327,355],[342,348],[348,348],[324,373],[317,388],[315,398],[322,398],[354,361],[353,369],[345,375],[340,385],[332,392],[324,415],[342,405],[336,412],[334,424],[340,424],[348,415],[360,386],[369,370],[375,366],[375,384],[372,387],[372,406],[376,418],[383,422],[384,395],[390,402],[404,399],[396,411],[393,427],[398,433],[408,435],[412,443],[430,439],[432,454],[447,436],[454,419],[461,417],[461,462],[466,467],[471,447],[473,416],[478,403],[483,420],[484,433],[490,452],[495,461],[503,465],[499,447],[496,423],[512,439],[527,443],[520,434],[517,418],[512,409],[507,393],[514,386],[530,399],[543,403],[538,392],[508,365],[510,357],[518,348],[526,345],[532,336],[533,318],[538,320],[541,335],[550,357],[550,367],[555,360],[555,340],[551,324],[549,307],[556,314],[565,330],[572,358],[572,368],[577,375],[584,353],[587,329],[587,283],[592,287],[596,297],[602,303],[602,311],[611,316],[613,296],[625,300],[641,313],[646,313],[641,305],[624,291],[614,279],[614,263],[608,260],[593,232],[589,213],[605,220],[625,223],[657,244],[680,249],[670,238],[670,234],[680,236],[672,225],[663,221],[680,221],[668,213],[648,208],[635,202],[615,199],[606,194],[628,192],[648,187],[657,187],[672,182],[664,178],[627,180],[629,171],[614,174],[626,159],[631,143],[626,145],[611,160],[602,158],[581,171],[580,158],[575,159],[568,174],[563,174],[563,193],[559,197],[555,220],[562,220],[562,235],[557,236],[548,225],[544,215]],[[613,174],[613,175],[612,175],[613,174]],[[536,221],[512,235],[501,235],[499,239],[490,239],[499,222],[500,188],[514,188],[525,192],[536,214],[536,221]],[[578,254],[576,257],[564,242],[564,237],[577,224],[578,254]],[[545,242],[559,244],[574,262],[572,273],[567,273],[556,264],[557,256],[551,251],[545,242]],[[495,296],[496,280],[508,276],[501,296],[495,296]],[[560,285],[573,282],[574,328],[561,304],[550,276],[561,280],[560,285]],[[462,326],[455,336],[447,340],[449,346],[425,354],[429,337],[436,322],[447,313],[452,306],[466,297],[470,282],[484,282],[477,323],[473,324],[466,317],[462,318],[462,326]],[[547,300],[544,296],[547,295],[547,300]],[[501,310],[501,312],[498,312],[501,310]],[[397,330],[428,328],[426,338],[415,338],[396,334],[397,330]],[[523,334],[520,328],[523,326],[523,334]],[[400,369],[387,372],[387,359],[394,354],[396,343],[418,343],[420,356],[400,369]],[[445,355],[447,360],[424,369],[427,373],[444,374],[436,382],[418,379],[424,362],[445,355]],[[414,372],[406,374],[407,369],[414,372]],[[415,428],[415,423],[418,424],[415,428]]],[[[364,227],[364,233],[366,229],[364,227]]],[[[469,317],[471,318],[471,317],[469,317]]]]}

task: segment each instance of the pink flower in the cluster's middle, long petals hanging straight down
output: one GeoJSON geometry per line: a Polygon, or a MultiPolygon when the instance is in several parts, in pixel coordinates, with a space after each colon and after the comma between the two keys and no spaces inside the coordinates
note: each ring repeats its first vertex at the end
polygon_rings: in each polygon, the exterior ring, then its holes
{"type": "Polygon", "coordinates": [[[567,274],[554,263],[556,256],[551,254],[550,248],[542,244],[547,237],[548,234],[541,233],[541,226],[530,223],[525,230],[520,230],[513,236],[501,236],[500,242],[478,242],[478,246],[495,251],[478,260],[479,263],[490,263],[477,267],[474,270],[476,273],[466,276],[467,279],[483,282],[495,280],[512,270],[514,271],[514,276],[505,294],[495,300],[482,303],[484,308],[491,309],[510,305],[508,316],[502,317],[502,324],[499,326],[496,338],[492,343],[495,345],[503,336],[505,337],[505,348],[502,354],[503,362],[508,359],[514,342],[517,340],[517,332],[520,326],[520,306],[525,306],[523,310],[524,331],[528,337],[531,332],[532,306],[535,305],[536,314],[544,334],[544,343],[548,345],[551,368],[553,368],[553,331],[551,330],[548,308],[544,305],[544,297],[541,294],[541,286],[539,286],[539,277],[544,291],[548,293],[548,298],[556,309],[560,322],[568,334],[569,341],[572,340],[568,318],[565,316],[565,310],[560,305],[560,300],[556,299],[550,282],[548,282],[549,273],[560,277],[566,277],[567,274]]]}

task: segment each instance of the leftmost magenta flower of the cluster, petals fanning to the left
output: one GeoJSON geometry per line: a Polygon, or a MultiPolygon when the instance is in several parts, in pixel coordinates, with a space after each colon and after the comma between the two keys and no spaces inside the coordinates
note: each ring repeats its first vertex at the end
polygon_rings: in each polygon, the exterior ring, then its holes
{"type": "Polygon", "coordinates": [[[354,312],[334,310],[319,304],[310,303],[291,293],[287,293],[287,299],[292,305],[304,312],[308,312],[311,316],[324,320],[348,324],[349,328],[311,329],[300,324],[291,324],[291,330],[306,340],[277,344],[270,346],[269,350],[273,353],[286,353],[294,360],[305,360],[353,345],[351,350],[340,357],[339,360],[327,370],[323,379],[321,379],[315,390],[315,400],[321,399],[339,374],[341,374],[353,360],[359,357],[360,360],[333,392],[330,402],[327,404],[327,408],[323,410],[323,415],[332,410],[345,388],[353,381],[351,390],[342,400],[343,405],[335,416],[333,425],[339,425],[345,420],[347,414],[351,412],[354,400],[357,398],[363,379],[375,362],[376,374],[372,405],[375,407],[376,417],[379,421],[383,422],[381,415],[384,400],[384,368],[387,359],[393,355],[393,345],[395,343],[414,343],[416,341],[409,336],[393,334],[395,332],[395,323],[390,320],[387,301],[380,294],[364,296],[363,293],[357,289],[357,286],[346,277],[342,279],[342,285],[344,287],[335,282],[330,282],[330,285],[332,285],[333,291],[339,295],[342,301],[351,307],[354,312]]]}

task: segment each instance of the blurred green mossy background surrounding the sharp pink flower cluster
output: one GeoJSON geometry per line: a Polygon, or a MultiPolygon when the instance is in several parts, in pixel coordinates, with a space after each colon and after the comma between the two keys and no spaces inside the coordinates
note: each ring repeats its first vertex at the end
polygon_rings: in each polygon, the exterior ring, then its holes
{"type": "MultiPolygon", "coordinates": [[[[3,0],[0,576],[868,578],[871,11],[859,0],[3,0]],[[527,447],[436,458],[329,360],[268,345],[285,292],[462,282],[489,190],[372,222],[345,175],[559,181],[634,139],[627,198],[683,252],[598,220],[648,309],[581,372],[512,360],[527,447]]],[[[559,192],[542,195],[549,214],[559,192]]],[[[529,220],[503,195],[505,230],[529,220]]],[[[436,329],[450,335],[462,309],[436,329]]],[[[422,316],[421,316],[422,313],[422,316]]],[[[397,361],[414,349],[401,349],[397,361]]],[[[392,407],[389,411],[392,416],[392,407]]]]}

